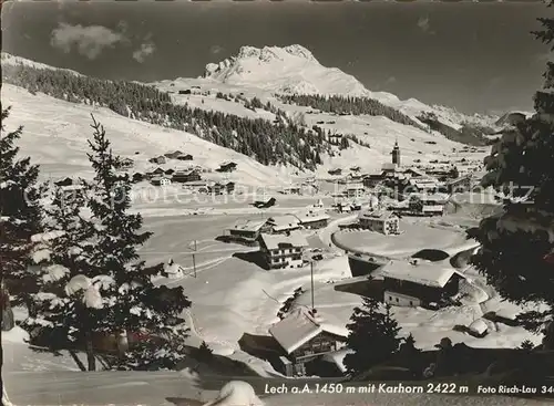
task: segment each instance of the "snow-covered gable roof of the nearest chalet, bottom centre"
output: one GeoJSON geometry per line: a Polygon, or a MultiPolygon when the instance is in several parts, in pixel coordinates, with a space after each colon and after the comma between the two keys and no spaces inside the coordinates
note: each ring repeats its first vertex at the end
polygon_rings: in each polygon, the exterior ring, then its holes
{"type": "Polygon", "coordinates": [[[301,306],[269,327],[269,334],[290,354],[324,331],[337,334],[335,330],[311,315],[308,308],[301,306]]]}

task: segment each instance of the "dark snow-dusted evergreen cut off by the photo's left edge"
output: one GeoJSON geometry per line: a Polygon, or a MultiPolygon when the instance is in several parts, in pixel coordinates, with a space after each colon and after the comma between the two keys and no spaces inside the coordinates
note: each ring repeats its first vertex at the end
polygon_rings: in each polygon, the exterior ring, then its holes
{"type": "Polygon", "coordinates": [[[31,236],[41,232],[43,192],[39,185],[39,166],[29,157],[19,158],[17,140],[23,127],[7,132],[4,122],[10,107],[1,113],[0,137],[0,263],[6,289],[13,296],[11,304],[28,303],[35,288],[29,269],[31,236]]]}

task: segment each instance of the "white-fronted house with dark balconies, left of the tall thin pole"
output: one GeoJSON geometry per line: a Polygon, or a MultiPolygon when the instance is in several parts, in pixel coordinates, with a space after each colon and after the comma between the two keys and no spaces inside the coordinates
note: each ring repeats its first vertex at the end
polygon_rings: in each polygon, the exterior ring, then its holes
{"type": "MultiPolygon", "coordinates": [[[[265,223],[265,222],[264,222],[265,223]]],[[[288,235],[259,235],[259,251],[268,269],[300,268],[308,241],[299,231],[288,235]]]]}

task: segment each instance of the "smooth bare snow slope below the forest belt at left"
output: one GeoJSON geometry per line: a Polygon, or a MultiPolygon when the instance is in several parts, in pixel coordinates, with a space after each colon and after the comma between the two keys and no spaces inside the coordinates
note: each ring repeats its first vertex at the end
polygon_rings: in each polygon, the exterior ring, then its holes
{"type": "Polygon", "coordinates": [[[114,150],[134,160],[133,171],[155,168],[148,163],[151,157],[179,149],[193,155],[194,160],[188,165],[206,169],[215,169],[226,160],[237,163],[237,169],[230,176],[243,184],[281,185],[287,179],[277,168],[264,166],[193,134],[129,119],[109,108],[64,102],[40,93],[32,95],[10,84],[2,85],[2,105],[12,106],[6,123],[8,128],[24,126],[22,154],[30,155],[41,165],[44,175],[54,179],[69,175],[90,176],[85,152],[86,139],[91,136],[91,113],[104,125],[114,150]]]}

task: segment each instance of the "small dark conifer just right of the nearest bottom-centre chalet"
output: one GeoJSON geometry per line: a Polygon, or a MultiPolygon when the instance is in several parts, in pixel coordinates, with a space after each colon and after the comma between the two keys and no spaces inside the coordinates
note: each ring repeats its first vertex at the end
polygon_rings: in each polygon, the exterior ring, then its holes
{"type": "Polygon", "coordinates": [[[353,352],[345,356],[349,374],[359,374],[389,360],[399,351],[402,339],[400,327],[391,314],[390,305],[373,298],[365,298],[361,308],[355,308],[347,346],[353,352]]]}

